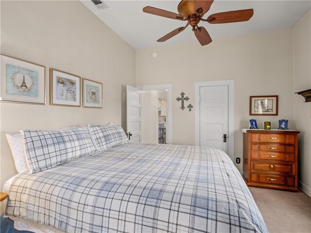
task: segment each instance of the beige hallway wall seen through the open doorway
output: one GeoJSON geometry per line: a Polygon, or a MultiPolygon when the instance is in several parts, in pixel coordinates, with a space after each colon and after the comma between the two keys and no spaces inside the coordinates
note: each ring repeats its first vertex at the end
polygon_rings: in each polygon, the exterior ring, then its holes
{"type": "Polygon", "coordinates": [[[167,91],[141,92],[141,142],[158,143],[158,99],[167,100],[167,91]]]}

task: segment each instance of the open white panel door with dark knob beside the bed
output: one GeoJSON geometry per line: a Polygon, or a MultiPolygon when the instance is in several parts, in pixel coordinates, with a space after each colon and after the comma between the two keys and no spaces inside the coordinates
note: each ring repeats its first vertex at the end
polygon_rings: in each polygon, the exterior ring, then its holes
{"type": "Polygon", "coordinates": [[[126,132],[131,142],[141,142],[140,90],[126,86],[126,132]]]}

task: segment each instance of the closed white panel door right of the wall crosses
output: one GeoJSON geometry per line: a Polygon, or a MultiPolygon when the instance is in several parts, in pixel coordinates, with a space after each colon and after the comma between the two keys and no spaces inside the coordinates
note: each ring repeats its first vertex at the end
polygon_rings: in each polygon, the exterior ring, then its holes
{"type": "Polygon", "coordinates": [[[228,86],[200,87],[200,146],[228,153],[228,86]]]}

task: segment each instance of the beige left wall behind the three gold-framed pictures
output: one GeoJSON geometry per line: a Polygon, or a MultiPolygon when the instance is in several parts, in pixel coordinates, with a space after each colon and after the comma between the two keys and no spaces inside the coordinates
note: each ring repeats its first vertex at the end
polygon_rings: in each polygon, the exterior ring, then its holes
{"type": "MultiPolygon", "coordinates": [[[[16,174],[5,133],[125,122],[135,50],[80,1],[1,1],[1,53],[46,66],[47,105],[0,103],[0,186],[16,174]],[[104,108],[49,105],[49,68],[104,83],[104,108]],[[123,118],[121,119],[121,115],[123,118]]],[[[125,125],[122,124],[124,127],[125,125]]]]}

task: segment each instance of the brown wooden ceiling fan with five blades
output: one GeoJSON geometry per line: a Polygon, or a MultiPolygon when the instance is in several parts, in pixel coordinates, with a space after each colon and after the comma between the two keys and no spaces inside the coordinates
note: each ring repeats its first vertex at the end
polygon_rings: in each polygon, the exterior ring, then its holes
{"type": "Polygon", "coordinates": [[[227,11],[216,13],[204,19],[203,16],[209,10],[214,0],[182,0],[179,2],[177,11],[179,14],[158,9],[152,6],[146,6],[142,9],[143,12],[156,16],[173,18],[181,21],[188,21],[185,27],[176,28],[172,32],[166,34],[157,40],[157,42],[164,42],[173,36],[184,31],[190,24],[192,31],[202,46],[212,42],[210,35],[204,27],[198,27],[200,21],[208,23],[234,23],[249,20],[253,14],[253,9],[227,11]]]}

